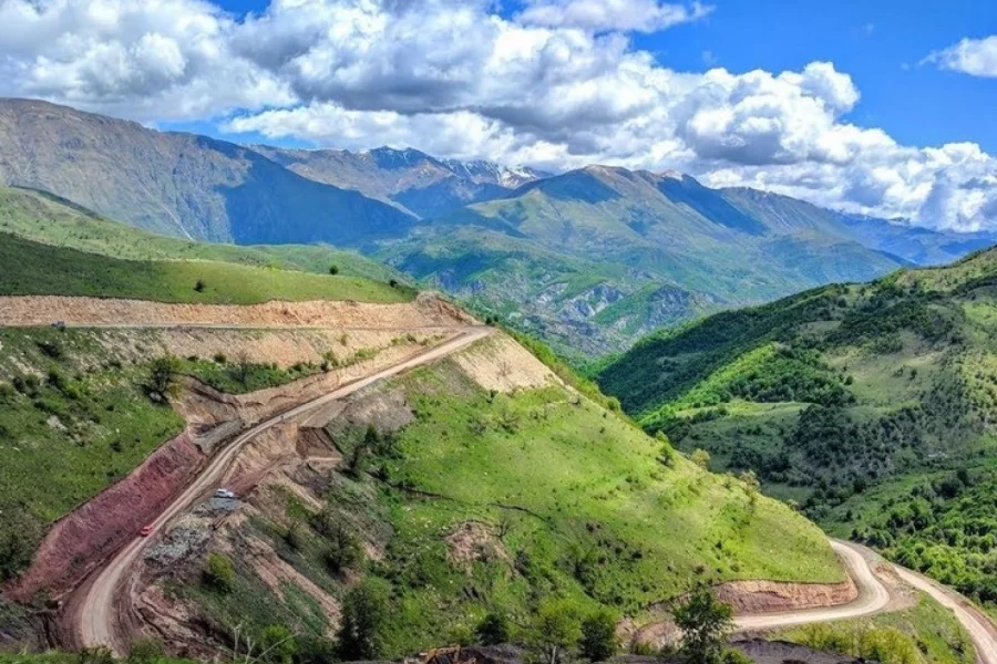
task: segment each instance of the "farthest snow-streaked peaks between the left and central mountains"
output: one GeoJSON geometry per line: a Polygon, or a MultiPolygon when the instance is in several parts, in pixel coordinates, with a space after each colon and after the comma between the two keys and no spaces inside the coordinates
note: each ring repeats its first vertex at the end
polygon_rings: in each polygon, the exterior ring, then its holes
{"type": "Polygon", "coordinates": [[[520,185],[549,176],[492,162],[436,159],[418,149],[254,149],[307,178],[356,189],[419,217],[434,217],[467,204],[500,198],[520,185]]]}

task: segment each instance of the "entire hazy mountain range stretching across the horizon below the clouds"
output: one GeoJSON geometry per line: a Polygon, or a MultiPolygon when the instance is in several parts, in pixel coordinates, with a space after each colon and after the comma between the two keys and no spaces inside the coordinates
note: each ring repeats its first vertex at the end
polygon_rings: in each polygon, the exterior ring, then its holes
{"type": "Polygon", "coordinates": [[[675,173],[243,146],[29,100],[0,101],[0,183],[187,239],[359,250],[579,357],[994,241],[675,173]]]}

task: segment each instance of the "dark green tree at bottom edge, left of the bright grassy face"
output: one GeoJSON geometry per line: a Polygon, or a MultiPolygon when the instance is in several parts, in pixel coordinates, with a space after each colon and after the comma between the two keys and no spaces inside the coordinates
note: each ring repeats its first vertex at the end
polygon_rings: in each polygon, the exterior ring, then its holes
{"type": "Polygon", "coordinates": [[[368,579],[350,589],[342,602],[339,656],[345,662],[381,658],[387,619],[388,591],[381,583],[368,579]]]}

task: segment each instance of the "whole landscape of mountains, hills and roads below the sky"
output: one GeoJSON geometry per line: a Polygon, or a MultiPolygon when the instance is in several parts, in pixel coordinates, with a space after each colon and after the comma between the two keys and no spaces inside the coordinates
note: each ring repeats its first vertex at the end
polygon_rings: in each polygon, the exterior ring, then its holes
{"type": "Polygon", "coordinates": [[[0,662],[997,664],[987,232],[24,100],[0,183],[0,662]]]}

